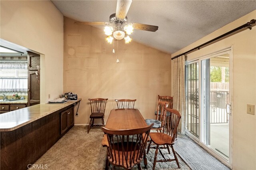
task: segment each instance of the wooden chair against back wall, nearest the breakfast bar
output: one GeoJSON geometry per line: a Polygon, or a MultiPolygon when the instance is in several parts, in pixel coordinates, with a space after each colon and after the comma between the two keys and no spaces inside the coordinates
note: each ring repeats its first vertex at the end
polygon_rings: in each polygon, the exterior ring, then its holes
{"type": "Polygon", "coordinates": [[[90,108],[91,108],[91,114],[90,114],[90,124],[88,127],[88,132],[90,131],[90,128],[93,126],[101,126],[101,125],[94,125],[94,119],[101,119],[102,126],[105,125],[104,123],[104,115],[105,115],[105,109],[106,109],[106,103],[108,99],[88,99],[90,101],[90,108]]]}

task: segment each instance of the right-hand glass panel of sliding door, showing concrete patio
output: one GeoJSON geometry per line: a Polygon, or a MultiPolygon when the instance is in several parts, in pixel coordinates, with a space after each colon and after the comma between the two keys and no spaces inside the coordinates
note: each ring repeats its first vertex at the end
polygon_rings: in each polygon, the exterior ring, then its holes
{"type": "Polygon", "coordinates": [[[229,160],[229,53],[201,61],[202,142],[229,160]]]}

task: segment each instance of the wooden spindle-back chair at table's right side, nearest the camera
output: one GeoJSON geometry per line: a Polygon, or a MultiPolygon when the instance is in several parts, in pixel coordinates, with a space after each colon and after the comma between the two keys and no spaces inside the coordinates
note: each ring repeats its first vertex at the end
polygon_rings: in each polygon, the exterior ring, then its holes
{"type": "Polygon", "coordinates": [[[178,162],[178,158],[176,156],[176,152],[173,148],[174,142],[176,141],[176,134],[177,134],[177,129],[178,129],[178,125],[180,123],[180,112],[174,109],[169,109],[169,108],[164,108],[164,110],[169,111],[170,112],[170,119],[167,119],[166,125],[169,125],[168,129],[163,130],[162,132],[150,132],[149,136],[150,136],[150,142],[148,145],[148,150],[147,153],[150,149],[150,145],[153,142],[154,144],[156,144],[156,152],[155,152],[155,156],[154,156],[154,164],[153,164],[153,170],[156,168],[156,162],[171,162],[171,161],[176,161],[178,168],[180,168],[180,164],[178,162]],[[166,147],[161,147],[160,146],[171,146],[172,148],[172,152],[174,155],[174,159],[166,159],[164,157],[164,154],[162,153],[162,151],[160,149],[162,148],[166,148],[166,147]],[[158,154],[158,150],[160,152],[160,154],[162,155],[163,159],[162,160],[157,160],[157,154],[158,154]]]}

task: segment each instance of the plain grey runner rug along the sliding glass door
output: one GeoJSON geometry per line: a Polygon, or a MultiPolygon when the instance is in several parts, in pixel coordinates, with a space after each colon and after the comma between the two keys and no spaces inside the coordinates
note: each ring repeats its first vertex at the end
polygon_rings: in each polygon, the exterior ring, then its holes
{"type": "Polygon", "coordinates": [[[178,136],[174,149],[192,170],[230,170],[230,168],[185,135],[178,136]]]}

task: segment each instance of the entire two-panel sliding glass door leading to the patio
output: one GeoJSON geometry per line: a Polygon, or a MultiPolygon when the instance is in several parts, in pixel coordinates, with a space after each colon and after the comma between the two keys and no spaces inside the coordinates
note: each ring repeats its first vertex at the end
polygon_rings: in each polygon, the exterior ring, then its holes
{"type": "Polygon", "coordinates": [[[185,65],[186,134],[230,165],[231,48],[185,65]]]}

